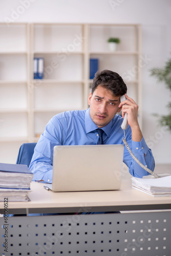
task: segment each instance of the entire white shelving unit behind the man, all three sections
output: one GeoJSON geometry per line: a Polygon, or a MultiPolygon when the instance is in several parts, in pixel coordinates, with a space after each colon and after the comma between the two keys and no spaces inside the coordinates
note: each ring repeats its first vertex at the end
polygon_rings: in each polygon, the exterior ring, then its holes
{"type": "MultiPolygon", "coordinates": [[[[142,125],[140,25],[2,23],[0,35],[3,147],[9,142],[36,142],[53,115],[88,108],[90,58],[98,58],[99,70],[110,69],[123,77],[129,96],[139,104],[142,125]],[[109,37],[121,40],[115,52],[109,50],[109,37]],[[34,57],[44,58],[44,79],[34,79],[34,57]]],[[[0,153],[4,162],[5,153],[0,153]]],[[[18,147],[15,157],[17,153],[18,147]]]]}

